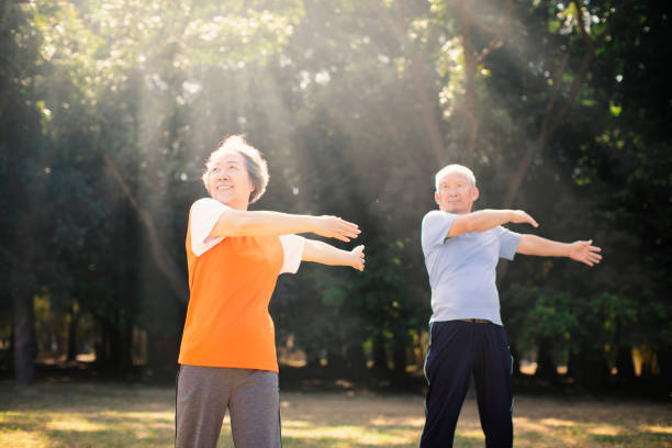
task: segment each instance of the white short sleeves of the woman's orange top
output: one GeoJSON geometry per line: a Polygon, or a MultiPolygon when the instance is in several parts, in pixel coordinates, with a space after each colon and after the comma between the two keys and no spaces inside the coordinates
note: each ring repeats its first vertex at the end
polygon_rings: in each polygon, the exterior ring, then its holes
{"type": "MultiPolygon", "coordinates": [[[[224,239],[223,236],[213,238],[210,235],[223,211],[229,210],[216,199],[202,198],[191,206],[191,250],[197,257],[205,254],[224,239]]],[[[280,244],[284,251],[284,262],[280,273],[295,273],[301,265],[305,238],[299,235],[280,235],[280,244]]]]}

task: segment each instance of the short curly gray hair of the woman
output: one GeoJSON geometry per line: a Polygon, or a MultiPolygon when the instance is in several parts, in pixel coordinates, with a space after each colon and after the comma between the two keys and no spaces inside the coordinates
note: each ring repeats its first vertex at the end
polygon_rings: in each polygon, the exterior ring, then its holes
{"type": "MultiPolygon", "coordinates": [[[[256,202],[264,192],[266,186],[268,186],[268,164],[261,152],[254,146],[249,145],[245,141],[244,135],[231,135],[217,145],[217,148],[210,154],[208,161],[205,161],[205,170],[203,171],[202,180],[208,190],[208,178],[210,177],[210,169],[221,154],[227,152],[235,152],[243,156],[245,159],[245,168],[247,169],[247,176],[253,184],[254,191],[249,195],[249,203],[256,202]]],[[[209,190],[210,192],[210,190],[209,190]]]]}

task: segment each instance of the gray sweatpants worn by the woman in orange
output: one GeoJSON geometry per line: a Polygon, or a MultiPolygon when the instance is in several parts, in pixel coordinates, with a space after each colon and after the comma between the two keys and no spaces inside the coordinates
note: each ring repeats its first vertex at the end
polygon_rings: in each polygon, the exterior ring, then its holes
{"type": "Polygon", "coordinates": [[[226,410],[236,448],[280,448],[278,373],[181,366],[176,448],[215,448],[226,410]]]}

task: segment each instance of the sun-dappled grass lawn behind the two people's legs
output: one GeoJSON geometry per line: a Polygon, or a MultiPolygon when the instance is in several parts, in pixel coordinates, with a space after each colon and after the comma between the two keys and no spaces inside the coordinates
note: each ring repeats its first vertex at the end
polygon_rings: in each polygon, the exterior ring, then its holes
{"type": "MultiPolygon", "coordinates": [[[[281,392],[282,440],[294,447],[416,447],[423,396],[281,392]]],[[[110,383],[0,382],[0,447],[171,447],[175,391],[110,383]]],[[[516,447],[672,447],[664,403],[517,396],[516,447]]],[[[220,447],[233,447],[228,417],[220,447]]],[[[482,447],[468,399],[457,447],[482,447]]]]}

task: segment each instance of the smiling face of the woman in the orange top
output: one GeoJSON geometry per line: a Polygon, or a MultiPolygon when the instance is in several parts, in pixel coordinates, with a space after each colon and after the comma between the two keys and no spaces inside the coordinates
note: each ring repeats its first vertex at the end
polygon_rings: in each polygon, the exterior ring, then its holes
{"type": "Polygon", "coordinates": [[[229,150],[222,153],[208,169],[208,191],[217,201],[232,209],[247,210],[254,191],[245,157],[229,150]]]}

